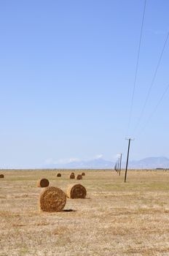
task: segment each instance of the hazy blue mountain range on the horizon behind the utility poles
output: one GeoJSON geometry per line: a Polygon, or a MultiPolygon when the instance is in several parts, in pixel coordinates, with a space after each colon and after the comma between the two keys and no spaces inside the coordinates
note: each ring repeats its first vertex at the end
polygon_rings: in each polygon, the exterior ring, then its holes
{"type": "MultiPolygon", "coordinates": [[[[66,164],[45,165],[43,168],[51,169],[114,169],[115,162],[105,160],[103,158],[93,159],[90,161],[68,162],[66,164]]],[[[125,167],[125,162],[122,162],[125,167]]],[[[131,169],[155,169],[169,168],[169,159],[167,157],[147,157],[138,161],[130,161],[131,169]]]]}

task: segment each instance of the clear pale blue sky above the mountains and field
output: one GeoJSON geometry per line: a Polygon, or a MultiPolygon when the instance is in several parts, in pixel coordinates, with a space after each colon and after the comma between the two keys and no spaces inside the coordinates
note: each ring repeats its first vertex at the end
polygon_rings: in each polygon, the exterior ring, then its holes
{"type": "Polygon", "coordinates": [[[0,1],[0,167],[68,159],[169,157],[169,42],[138,130],[169,1],[147,0],[130,130],[127,124],[144,0],[0,1]],[[146,126],[146,127],[145,127],[146,126]],[[145,129],[143,129],[145,127],[145,129]]]}

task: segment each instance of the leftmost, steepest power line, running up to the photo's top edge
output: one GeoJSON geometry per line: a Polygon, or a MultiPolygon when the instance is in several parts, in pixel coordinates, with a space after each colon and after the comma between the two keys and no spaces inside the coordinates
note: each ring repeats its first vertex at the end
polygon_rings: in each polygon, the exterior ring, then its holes
{"type": "Polygon", "coordinates": [[[137,80],[137,74],[138,74],[138,61],[139,61],[140,51],[141,51],[141,39],[142,39],[142,34],[143,34],[145,12],[146,12],[146,0],[144,1],[144,12],[143,12],[143,17],[142,17],[142,22],[141,22],[141,34],[140,34],[140,39],[139,39],[139,44],[138,44],[138,55],[137,55],[137,61],[136,61],[136,67],[135,67],[135,77],[134,77],[133,92],[132,92],[132,97],[131,97],[131,105],[130,105],[130,113],[129,113],[127,132],[130,129],[130,122],[131,122],[131,117],[132,117],[132,113],[133,113],[133,102],[134,102],[135,86],[136,86],[136,80],[137,80]]]}

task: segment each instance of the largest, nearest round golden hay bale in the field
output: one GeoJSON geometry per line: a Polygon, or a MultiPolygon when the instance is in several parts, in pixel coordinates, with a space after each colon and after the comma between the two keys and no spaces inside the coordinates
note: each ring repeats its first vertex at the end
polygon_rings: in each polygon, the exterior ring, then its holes
{"type": "Polygon", "coordinates": [[[39,195],[39,208],[42,211],[62,211],[66,205],[66,194],[58,187],[47,187],[39,195]]]}

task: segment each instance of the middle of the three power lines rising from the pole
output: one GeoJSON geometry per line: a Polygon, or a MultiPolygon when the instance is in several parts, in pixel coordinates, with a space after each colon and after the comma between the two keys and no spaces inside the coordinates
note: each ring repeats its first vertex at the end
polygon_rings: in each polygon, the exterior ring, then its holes
{"type": "Polygon", "coordinates": [[[161,63],[161,60],[162,60],[162,56],[163,56],[163,53],[164,53],[164,51],[165,51],[165,47],[166,47],[167,42],[168,42],[168,37],[169,37],[169,31],[168,31],[167,37],[165,38],[164,45],[162,46],[162,51],[161,51],[161,53],[160,53],[160,58],[158,59],[157,67],[156,67],[156,69],[155,69],[155,71],[154,71],[154,75],[153,75],[153,77],[152,77],[152,82],[150,83],[149,90],[148,90],[148,92],[147,92],[147,94],[146,94],[146,99],[145,99],[145,101],[144,101],[144,105],[143,105],[143,108],[142,108],[142,110],[141,110],[141,114],[140,114],[140,116],[139,116],[139,118],[138,118],[138,122],[137,122],[137,124],[136,124],[136,126],[135,126],[135,129],[134,129],[133,133],[138,129],[138,125],[140,124],[141,118],[143,118],[143,116],[144,116],[144,110],[145,110],[145,108],[146,108],[146,104],[147,104],[147,102],[148,102],[149,95],[150,95],[150,93],[151,93],[151,91],[152,91],[152,87],[154,86],[154,80],[155,80],[155,78],[156,78],[156,76],[157,76],[157,71],[158,71],[158,69],[159,69],[159,67],[160,67],[160,63],[161,63]]]}

